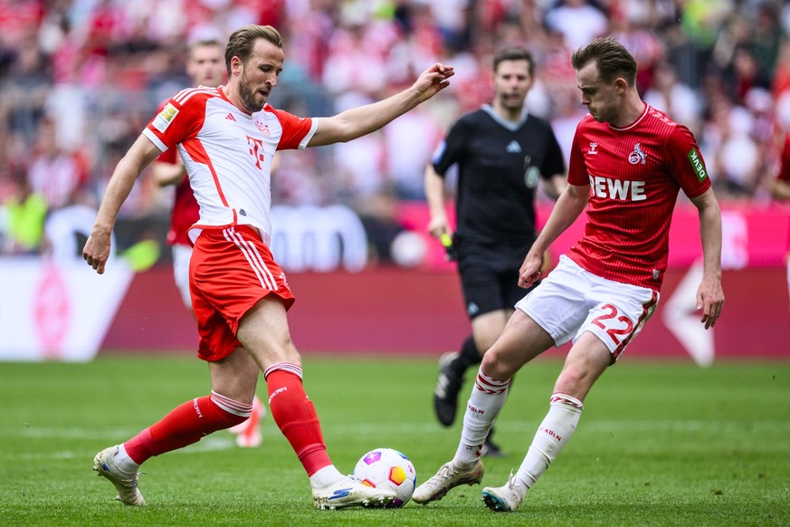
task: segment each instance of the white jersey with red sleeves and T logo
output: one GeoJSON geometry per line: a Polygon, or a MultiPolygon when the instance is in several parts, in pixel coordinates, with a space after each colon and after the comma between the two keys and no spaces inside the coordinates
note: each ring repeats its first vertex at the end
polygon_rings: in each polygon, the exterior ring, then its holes
{"type": "Polygon", "coordinates": [[[271,237],[271,158],[276,150],[305,149],[317,120],[269,104],[252,115],[236,108],[223,87],[179,91],[143,130],[165,151],[177,145],[200,206],[201,227],[252,225],[271,237]]]}

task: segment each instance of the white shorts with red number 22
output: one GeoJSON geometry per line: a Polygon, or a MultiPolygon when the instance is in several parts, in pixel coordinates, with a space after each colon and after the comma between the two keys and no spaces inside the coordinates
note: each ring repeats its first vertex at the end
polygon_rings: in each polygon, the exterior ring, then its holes
{"type": "Polygon", "coordinates": [[[658,300],[657,291],[606,280],[562,255],[557,268],[516,308],[546,330],[557,346],[576,342],[590,331],[616,360],[642,330],[658,300]]]}

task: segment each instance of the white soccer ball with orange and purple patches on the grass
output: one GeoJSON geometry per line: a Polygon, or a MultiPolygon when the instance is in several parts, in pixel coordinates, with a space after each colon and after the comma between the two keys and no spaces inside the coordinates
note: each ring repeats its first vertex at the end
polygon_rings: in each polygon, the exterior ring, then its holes
{"type": "Polygon", "coordinates": [[[412,499],[417,484],[412,462],[392,448],[376,448],[363,455],[354,467],[354,476],[368,486],[395,491],[395,501],[389,507],[403,507],[412,499]]]}

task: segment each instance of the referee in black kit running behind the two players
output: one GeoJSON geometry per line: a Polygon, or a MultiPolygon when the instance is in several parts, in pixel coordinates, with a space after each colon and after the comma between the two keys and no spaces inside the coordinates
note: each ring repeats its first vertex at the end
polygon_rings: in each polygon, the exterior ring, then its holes
{"type": "MultiPolygon", "coordinates": [[[[464,373],[480,363],[524,296],[518,272],[536,236],[538,182],[553,199],[566,185],[565,161],[551,126],[524,107],[534,73],[528,50],[497,53],[493,101],[452,125],[433,165],[425,169],[428,231],[458,260],[472,331],[460,351],[447,352],[439,360],[433,407],[444,426],[455,420],[464,373]],[[457,228],[452,235],[444,208],[444,176],[456,164],[457,228]]],[[[483,455],[502,455],[490,436],[483,455]]]]}

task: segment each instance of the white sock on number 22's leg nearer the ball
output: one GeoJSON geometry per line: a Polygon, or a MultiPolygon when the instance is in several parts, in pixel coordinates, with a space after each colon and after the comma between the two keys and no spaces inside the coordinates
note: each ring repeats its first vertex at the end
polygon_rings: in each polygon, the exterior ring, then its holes
{"type": "Polygon", "coordinates": [[[469,467],[480,459],[483,442],[505,404],[509,386],[510,379],[495,380],[478,371],[463,414],[461,443],[452,458],[454,465],[469,467]]]}

